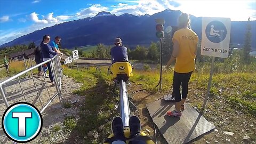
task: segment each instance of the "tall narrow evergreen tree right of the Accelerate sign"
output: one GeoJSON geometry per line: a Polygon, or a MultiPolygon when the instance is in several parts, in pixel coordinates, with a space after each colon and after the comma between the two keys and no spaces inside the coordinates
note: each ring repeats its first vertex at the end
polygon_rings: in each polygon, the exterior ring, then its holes
{"type": "Polygon", "coordinates": [[[245,41],[244,41],[244,47],[243,47],[243,60],[246,63],[250,63],[250,52],[251,52],[251,23],[250,18],[248,18],[247,26],[246,26],[246,34],[245,34],[245,41]]]}

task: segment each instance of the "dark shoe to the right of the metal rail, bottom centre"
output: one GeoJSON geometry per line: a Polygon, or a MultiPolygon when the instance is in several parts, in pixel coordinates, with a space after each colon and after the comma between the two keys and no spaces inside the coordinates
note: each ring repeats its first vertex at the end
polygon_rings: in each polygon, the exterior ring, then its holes
{"type": "Polygon", "coordinates": [[[129,127],[131,135],[130,137],[134,137],[135,135],[140,135],[141,125],[140,119],[137,116],[131,116],[129,119],[129,127]]]}

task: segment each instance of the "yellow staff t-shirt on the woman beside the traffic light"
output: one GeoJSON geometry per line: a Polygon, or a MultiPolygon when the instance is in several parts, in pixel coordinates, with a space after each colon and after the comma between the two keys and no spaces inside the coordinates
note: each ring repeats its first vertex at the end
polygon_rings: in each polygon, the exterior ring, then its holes
{"type": "Polygon", "coordinates": [[[179,53],[176,57],[174,71],[177,73],[189,73],[196,69],[195,65],[195,51],[198,43],[198,36],[192,30],[183,28],[175,31],[172,41],[178,41],[179,53]]]}

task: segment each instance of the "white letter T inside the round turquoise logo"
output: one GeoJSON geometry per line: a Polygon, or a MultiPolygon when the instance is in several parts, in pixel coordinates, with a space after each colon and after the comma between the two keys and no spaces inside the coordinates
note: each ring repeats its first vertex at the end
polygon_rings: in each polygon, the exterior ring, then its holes
{"type": "Polygon", "coordinates": [[[26,118],[31,118],[31,112],[12,112],[12,118],[18,118],[18,135],[26,136],[26,118]]]}

